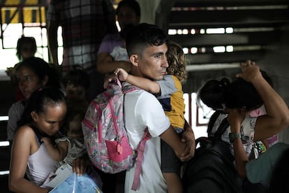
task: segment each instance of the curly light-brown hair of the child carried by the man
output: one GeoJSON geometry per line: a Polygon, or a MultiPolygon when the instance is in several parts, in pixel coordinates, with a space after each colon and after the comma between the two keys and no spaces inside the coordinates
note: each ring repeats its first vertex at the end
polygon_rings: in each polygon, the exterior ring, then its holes
{"type": "Polygon", "coordinates": [[[166,53],[168,59],[167,73],[176,76],[180,82],[186,80],[186,55],[183,48],[177,43],[168,43],[168,52],[166,53]]]}

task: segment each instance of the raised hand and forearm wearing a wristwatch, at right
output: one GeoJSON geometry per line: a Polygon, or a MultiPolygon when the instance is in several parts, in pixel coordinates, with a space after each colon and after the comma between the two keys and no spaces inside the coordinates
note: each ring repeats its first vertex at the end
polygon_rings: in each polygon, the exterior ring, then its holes
{"type": "MultiPolygon", "coordinates": [[[[228,115],[228,122],[230,123],[230,129],[233,134],[240,134],[241,123],[244,120],[244,116],[241,115],[240,110],[235,108],[230,110],[228,115]]],[[[237,172],[242,178],[246,178],[246,163],[249,162],[249,158],[243,147],[242,139],[235,138],[233,141],[234,155],[237,172]]]]}

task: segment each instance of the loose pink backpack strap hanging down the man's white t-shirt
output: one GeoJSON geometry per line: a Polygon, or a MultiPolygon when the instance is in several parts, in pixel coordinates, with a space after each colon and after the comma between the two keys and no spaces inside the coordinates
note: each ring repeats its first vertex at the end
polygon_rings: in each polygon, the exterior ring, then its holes
{"type": "Polygon", "coordinates": [[[149,134],[149,130],[146,129],[142,140],[140,141],[140,145],[138,145],[138,157],[135,165],[135,176],[133,178],[133,185],[131,186],[131,190],[137,190],[140,186],[140,172],[142,171],[142,159],[144,158],[144,147],[147,140],[151,138],[151,134],[149,134]]]}

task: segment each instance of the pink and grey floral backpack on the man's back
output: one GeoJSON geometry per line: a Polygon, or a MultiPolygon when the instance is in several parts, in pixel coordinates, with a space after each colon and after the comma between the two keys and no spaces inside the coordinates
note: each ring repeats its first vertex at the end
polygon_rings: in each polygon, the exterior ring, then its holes
{"type": "Polygon", "coordinates": [[[138,155],[135,185],[138,185],[144,144],[150,138],[147,132],[136,152],[131,148],[124,128],[124,94],[139,89],[133,85],[123,90],[119,80],[91,101],[82,120],[84,145],[89,158],[105,173],[119,173],[131,168],[138,155]]]}

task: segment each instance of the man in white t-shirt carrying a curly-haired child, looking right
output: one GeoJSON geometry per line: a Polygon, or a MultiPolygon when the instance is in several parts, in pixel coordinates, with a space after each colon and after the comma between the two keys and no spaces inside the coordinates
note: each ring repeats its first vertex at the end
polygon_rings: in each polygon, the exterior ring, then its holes
{"type": "MultiPolygon", "coordinates": [[[[168,68],[165,57],[167,43],[168,37],[155,25],[138,24],[133,27],[126,38],[126,48],[132,65],[131,74],[151,80],[163,79],[168,68]]],[[[126,94],[124,116],[128,139],[133,149],[138,148],[146,128],[151,134],[151,139],[145,145],[140,186],[136,192],[168,192],[161,172],[160,139],[175,150],[181,161],[186,161],[193,157],[195,150],[192,129],[186,124],[182,136],[184,141],[181,141],[156,97],[144,90],[126,94]]],[[[134,174],[135,166],[126,171],[124,192],[135,192],[131,190],[134,174]]]]}

